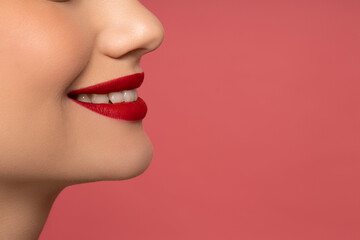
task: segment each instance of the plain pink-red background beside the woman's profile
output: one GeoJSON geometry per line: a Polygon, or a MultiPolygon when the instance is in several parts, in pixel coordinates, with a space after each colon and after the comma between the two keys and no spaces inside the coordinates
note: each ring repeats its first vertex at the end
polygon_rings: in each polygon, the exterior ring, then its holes
{"type": "Polygon", "coordinates": [[[360,239],[360,2],[142,3],[153,162],[66,188],[40,239],[360,239]]]}

